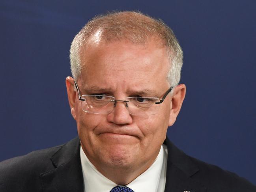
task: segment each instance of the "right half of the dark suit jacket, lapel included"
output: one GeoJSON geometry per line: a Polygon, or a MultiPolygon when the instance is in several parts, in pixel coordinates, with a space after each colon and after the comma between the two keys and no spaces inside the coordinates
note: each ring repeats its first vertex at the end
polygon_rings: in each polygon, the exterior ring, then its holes
{"type": "Polygon", "coordinates": [[[180,182],[182,186],[187,184],[191,185],[190,187],[207,188],[207,192],[256,192],[256,186],[243,177],[190,157],[172,144],[168,138],[164,144],[168,147],[168,179],[175,180],[175,185],[180,182]],[[179,179],[176,179],[177,175],[179,179]]]}

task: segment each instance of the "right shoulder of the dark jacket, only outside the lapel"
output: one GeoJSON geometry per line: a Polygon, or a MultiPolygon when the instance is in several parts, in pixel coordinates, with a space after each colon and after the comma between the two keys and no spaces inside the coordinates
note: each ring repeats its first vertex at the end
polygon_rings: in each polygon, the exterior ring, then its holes
{"type": "Polygon", "coordinates": [[[198,171],[191,178],[211,188],[212,191],[256,192],[256,186],[245,178],[196,158],[189,158],[198,167],[198,171]]]}

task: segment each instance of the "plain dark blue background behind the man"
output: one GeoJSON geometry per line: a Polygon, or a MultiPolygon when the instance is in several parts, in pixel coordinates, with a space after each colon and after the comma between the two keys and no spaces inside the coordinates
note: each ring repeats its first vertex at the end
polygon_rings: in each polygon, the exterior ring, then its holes
{"type": "Polygon", "coordinates": [[[184,51],[187,96],[168,137],[187,154],[256,184],[256,1],[0,2],[0,160],[77,136],[65,77],[69,47],[93,16],[138,9],[184,51]]]}

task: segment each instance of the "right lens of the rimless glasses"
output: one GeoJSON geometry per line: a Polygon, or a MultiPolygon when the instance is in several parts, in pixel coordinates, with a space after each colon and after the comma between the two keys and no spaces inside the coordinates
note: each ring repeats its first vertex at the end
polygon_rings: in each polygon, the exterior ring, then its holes
{"type": "Polygon", "coordinates": [[[156,102],[160,100],[157,97],[127,97],[129,101],[127,109],[129,113],[136,116],[149,116],[158,113],[159,107],[156,102]]]}

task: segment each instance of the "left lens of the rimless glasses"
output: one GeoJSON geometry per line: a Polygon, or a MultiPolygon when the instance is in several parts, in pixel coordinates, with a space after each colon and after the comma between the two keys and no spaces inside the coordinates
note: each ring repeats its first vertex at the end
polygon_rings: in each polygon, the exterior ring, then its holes
{"type": "Polygon", "coordinates": [[[111,100],[115,100],[114,97],[105,95],[82,95],[84,101],[82,101],[82,110],[88,113],[95,114],[108,114],[110,113],[114,105],[110,103],[111,100]]]}

